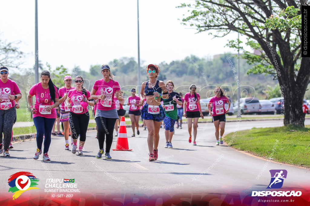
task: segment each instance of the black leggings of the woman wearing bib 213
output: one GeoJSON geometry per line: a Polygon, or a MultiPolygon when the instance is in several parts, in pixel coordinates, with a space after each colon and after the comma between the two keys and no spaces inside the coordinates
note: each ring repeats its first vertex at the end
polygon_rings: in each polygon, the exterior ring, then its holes
{"type": "Polygon", "coordinates": [[[69,112],[69,124],[72,131],[72,139],[78,139],[78,135],[80,135],[80,141],[86,141],[88,122],[88,111],[84,114],[75,114],[71,111],[69,112]]]}

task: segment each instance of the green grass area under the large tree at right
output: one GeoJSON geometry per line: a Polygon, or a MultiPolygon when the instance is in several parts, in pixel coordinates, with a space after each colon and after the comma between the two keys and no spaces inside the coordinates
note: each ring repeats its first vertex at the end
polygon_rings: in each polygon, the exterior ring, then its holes
{"type": "Polygon", "coordinates": [[[225,142],[231,147],[276,162],[310,168],[310,125],[305,128],[283,126],[252,128],[229,133],[225,142]]]}

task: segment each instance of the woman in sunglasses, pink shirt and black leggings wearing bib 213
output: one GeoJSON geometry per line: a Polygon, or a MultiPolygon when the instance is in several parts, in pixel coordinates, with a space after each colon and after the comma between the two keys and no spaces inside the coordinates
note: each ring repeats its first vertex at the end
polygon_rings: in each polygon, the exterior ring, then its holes
{"type": "Polygon", "coordinates": [[[67,105],[70,107],[69,124],[72,132],[71,137],[73,139],[71,152],[73,154],[76,153],[78,148],[78,136],[80,135],[78,154],[82,155],[89,123],[87,106],[93,106],[95,100],[91,99],[90,92],[83,87],[84,80],[81,76],[77,76],[74,83],[76,88],[69,91],[67,98],[67,105]]]}

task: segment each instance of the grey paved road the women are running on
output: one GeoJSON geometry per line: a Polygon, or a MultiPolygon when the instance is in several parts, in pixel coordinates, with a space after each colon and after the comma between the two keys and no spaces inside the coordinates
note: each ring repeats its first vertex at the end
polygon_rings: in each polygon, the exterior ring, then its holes
{"type": "MultiPolygon", "coordinates": [[[[232,132],[236,124],[227,123],[225,133],[232,132]]],[[[280,124],[279,120],[240,122],[239,130],[277,127],[280,124]]],[[[310,124],[310,120],[306,120],[306,124],[310,124]]],[[[310,179],[306,178],[309,176],[308,169],[275,162],[270,162],[262,176],[257,179],[266,160],[251,157],[224,145],[216,146],[212,123],[199,124],[197,146],[193,146],[188,143],[185,126],[183,129],[175,129],[173,149],[163,147],[164,129],[160,130],[159,158],[154,162],[148,162],[147,131],[143,130],[139,136],[128,138],[132,151],[111,151],[112,160],[95,158],[99,150],[97,139],[94,138],[95,131],[87,132],[82,156],[65,151],[63,137],[52,137],[50,162],[39,161],[42,156],[39,160],[32,159],[36,150],[35,140],[15,143],[14,149],[10,150],[11,157],[0,156],[0,192],[8,191],[7,179],[19,171],[29,171],[39,178],[40,192],[44,192],[49,178],[75,179],[81,192],[91,194],[201,193],[223,191],[225,188],[236,188],[238,191],[246,191],[248,188],[265,190],[270,181],[268,170],[271,169],[288,171],[286,187],[299,188],[310,183],[310,179]]],[[[127,128],[127,132],[130,135],[131,128],[127,128]]],[[[116,139],[112,148],[115,148],[116,139]]],[[[275,140],[270,141],[273,143],[275,140]]]]}

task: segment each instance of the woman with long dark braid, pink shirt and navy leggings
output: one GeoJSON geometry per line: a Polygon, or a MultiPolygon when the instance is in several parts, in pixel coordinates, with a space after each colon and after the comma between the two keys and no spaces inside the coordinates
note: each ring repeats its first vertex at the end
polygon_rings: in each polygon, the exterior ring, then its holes
{"type": "Polygon", "coordinates": [[[42,154],[42,143],[44,135],[43,160],[51,160],[47,154],[51,145],[51,133],[56,119],[55,107],[58,103],[57,88],[51,80],[51,74],[47,70],[41,72],[41,82],[33,85],[27,96],[31,113],[33,114],[33,123],[37,129],[37,151],[33,159],[38,159],[42,154]],[[31,97],[35,95],[34,107],[31,97]]]}

